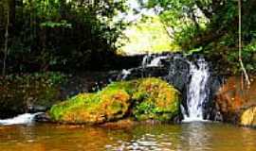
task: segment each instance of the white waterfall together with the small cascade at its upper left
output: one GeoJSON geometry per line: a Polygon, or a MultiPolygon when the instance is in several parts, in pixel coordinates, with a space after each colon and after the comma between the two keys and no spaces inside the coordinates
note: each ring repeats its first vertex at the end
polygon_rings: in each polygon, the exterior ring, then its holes
{"type": "MultiPolygon", "coordinates": [[[[177,62],[178,60],[187,63],[189,66],[188,73],[186,71],[183,75],[187,74],[187,83],[185,83],[187,92],[186,92],[186,105],[187,110],[181,105],[182,114],[184,117],[183,122],[190,121],[203,121],[204,120],[204,104],[208,101],[209,88],[207,84],[209,82],[210,72],[209,65],[205,59],[197,59],[196,61],[189,60],[181,56],[173,56],[174,62],[170,63],[169,75],[173,75],[172,78],[177,78],[174,76],[175,72],[184,72],[180,71],[181,68],[177,66],[182,66],[177,62]],[[179,70],[179,71],[177,71],[179,70]]],[[[143,67],[157,67],[161,66],[161,60],[171,59],[172,56],[161,55],[153,56],[147,55],[143,58],[142,66],[143,67]]],[[[131,73],[130,73],[131,74],[131,73]]],[[[180,80],[180,79],[179,79],[180,80]]],[[[172,83],[172,82],[171,82],[172,83]]]]}

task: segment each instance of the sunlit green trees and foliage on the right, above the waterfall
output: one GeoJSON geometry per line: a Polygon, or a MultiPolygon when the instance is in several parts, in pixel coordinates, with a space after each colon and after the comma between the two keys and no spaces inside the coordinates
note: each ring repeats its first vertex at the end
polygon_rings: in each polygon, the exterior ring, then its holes
{"type": "MultiPolygon", "coordinates": [[[[149,0],[144,7],[158,9],[170,36],[183,50],[204,53],[229,64],[232,72],[239,71],[238,1],[149,0]]],[[[256,68],[255,7],[255,0],[242,1],[242,56],[251,72],[256,68]]]]}

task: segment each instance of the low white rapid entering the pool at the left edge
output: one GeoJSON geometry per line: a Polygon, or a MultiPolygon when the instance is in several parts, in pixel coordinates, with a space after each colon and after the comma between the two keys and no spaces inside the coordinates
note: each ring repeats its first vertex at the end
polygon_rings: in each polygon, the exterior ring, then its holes
{"type": "Polygon", "coordinates": [[[42,114],[43,112],[37,113],[24,113],[10,119],[0,120],[0,126],[9,126],[9,125],[28,125],[34,122],[36,115],[42,114]]]}

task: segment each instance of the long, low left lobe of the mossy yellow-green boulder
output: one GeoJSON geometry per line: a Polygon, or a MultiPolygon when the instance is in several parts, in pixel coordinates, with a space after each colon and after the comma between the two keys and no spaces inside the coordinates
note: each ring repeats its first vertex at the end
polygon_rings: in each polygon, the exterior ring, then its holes
{"type": "Polygon", "coordinates": [[[130,95],[122,90],[81,93],[53,106],[49,115],[59,122],[98,124],[122,118],[129,109],[129,101],[130,95]]]}

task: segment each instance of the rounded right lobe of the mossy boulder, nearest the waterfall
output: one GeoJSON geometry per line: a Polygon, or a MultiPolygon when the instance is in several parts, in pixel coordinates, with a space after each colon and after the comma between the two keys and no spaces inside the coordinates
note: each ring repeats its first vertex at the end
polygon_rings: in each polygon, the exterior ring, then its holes
{"type": "Polygon", "coordinates": [[[179,113],[180,95],[173,86],[157,78],[140,80],[133,114],[137,120],[171,121],[179,113]]]}

